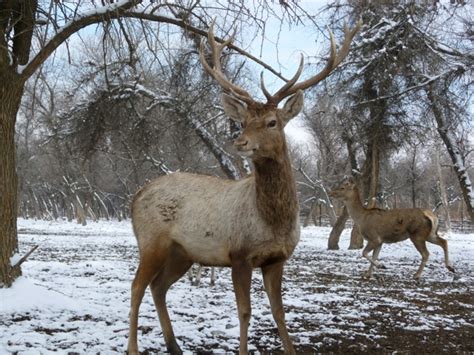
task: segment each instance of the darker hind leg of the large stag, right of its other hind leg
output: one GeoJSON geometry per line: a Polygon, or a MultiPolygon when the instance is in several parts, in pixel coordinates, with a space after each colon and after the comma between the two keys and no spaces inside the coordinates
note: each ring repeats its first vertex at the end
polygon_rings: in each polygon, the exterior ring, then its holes
{"type": "Polygon", "coordinates": [[[173,327],[171,326],[171,320],[166,307],[166,293],[171,285],[178,281],[191,265],[192,261],[188,258],[183,248],[178,244],[174,244],[161,272],[157,274],[150,285],[166,348],[171,354],[182,354],[182,351],[176,342],[173,327]]]}

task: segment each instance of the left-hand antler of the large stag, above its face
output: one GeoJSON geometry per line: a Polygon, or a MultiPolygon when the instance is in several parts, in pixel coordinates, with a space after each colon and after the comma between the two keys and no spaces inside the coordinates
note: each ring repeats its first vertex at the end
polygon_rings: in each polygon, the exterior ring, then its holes
{"type": "Polygon", "coordinates": [[[201,60],[201,64],[204,67],[204,70],[214,79],[216,79],[216,81],[220,84],[220,86],[222,86],[224,91],[231,92],[233,96],[245,102],[247,105],[257,104],[257,102],[252,99],[252,97],[247,91],[232,83],[222,72],[220,61],[221,53],[222,50],[233,41],[234,35],[232,35],[229,39],[223,41],[222,43],[218,44],[214,38],[214,23],[215,20],[212,21],[211,26],[209,27],[209,31],[207,32],[208,43],[211,49],[213,67],[209,65],[204,55],[204,39],[201,40],[201,46],[199,48],[199,59],[201,60]]]}

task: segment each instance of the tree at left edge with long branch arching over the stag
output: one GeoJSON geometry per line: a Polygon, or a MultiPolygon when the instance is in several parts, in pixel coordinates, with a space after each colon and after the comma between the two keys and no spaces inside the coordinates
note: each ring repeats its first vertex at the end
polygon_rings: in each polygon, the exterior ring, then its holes
{"type": "MultiPolygon", "coordinates": [[[[95,2],[88,4],[82,1],[24,0],[0,3],[0,285],[9,287],[21,272],[19,267],[12,268],[10,258],[18,250],[15,124],[27,80],[61,44],[92,24],[102,23],[106,29],[110,29],[113,20],[131,18],[141,23],[155,21],[178,26],[197,35],[205,35],[205,30],[188,23],[187,19],[193,14],[196,14],[199,25],[206,27],[212,13],[227,12],[230,21],[237,21],[242,14],[247,16],[252,12],[240,2],[233,1],[225,6],[213,6],[212,11],[208,11],[205,4],[199,1],[184,4],[181,1],[162,0],[142,4],[140,0],[104,0],[101,3],[102,6],[97,6],[95,2]]],[[[266,14],[270,12],[266,1],[257,6],[259,14],[262,13],[260,10],[266,14]]],[[[298,8],[297,5],[295,7],[298,8]]],[[[295,16],[295,12],[284,13],[288,17],[295,16]]],[[[118,23],[119,31],[125,33],[123,23],[118,23]]],[[[230,45],[230,48],[245,54],[235,45],[230,45]]],[[[255,57],[252,57],[252,60],[263,64],[255,57]]],[[[278,74],[269,66],[265,68],[278,74]]]]}

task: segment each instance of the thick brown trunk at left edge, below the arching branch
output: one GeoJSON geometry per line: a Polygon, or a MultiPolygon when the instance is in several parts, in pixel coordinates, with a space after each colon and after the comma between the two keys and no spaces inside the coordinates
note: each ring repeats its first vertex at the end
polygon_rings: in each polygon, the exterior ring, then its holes
{"type": "Polygon", "coordinates": [[[20,268],[12,268],[10,258],[18,252],[15,123],[22,93],[18,75],[0,69],[0,287],[10,287],[21,275],[20,268]]]}

